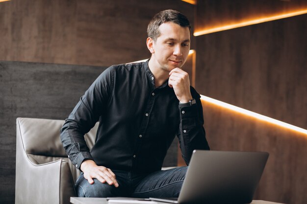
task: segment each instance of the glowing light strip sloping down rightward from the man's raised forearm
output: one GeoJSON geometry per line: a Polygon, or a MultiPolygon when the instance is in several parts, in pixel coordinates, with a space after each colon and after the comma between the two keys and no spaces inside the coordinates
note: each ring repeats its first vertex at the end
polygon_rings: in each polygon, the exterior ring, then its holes
{"type": "Polygon", "coordinates": [[[281,122],[280,120],[276,120],[276,119],[273,119],[271,117],[267,117],[267,116],[261,115],[259,113],[248,111],[248,110],[239,108],[237,106],[233,106],[233,105],[230,105],[228,103],[225,103],[225,102],[213,99],[213,98],[209,98],[209,97],[204,96],[204,95],[201,95],[201,99],[206,101],[206,102],[212,103],[214,105],[230,109],[230,110],[235,111],[237,113],[242,113],[242,114],[254,117],[256,119],[259,119],[259,120],[262,120],[262,121],[266,121],[266,122],[269,122],[269,123],[272,123],[272,124],[275,124],[275,125],[278,125],[278,126],[281,126],[281,127],[284,127],[284,128],[290,129],[290,130],[294,130],[294,131],[297,131],[297,132],[300,132],[300,133],[303,133],[303,134],[307,135],[307,130],[305,130],[303,128],[299,128],[299,127],[294,126],[294,125],[290,125],[290,124],[285,123],[285,122],[281,122]]]}

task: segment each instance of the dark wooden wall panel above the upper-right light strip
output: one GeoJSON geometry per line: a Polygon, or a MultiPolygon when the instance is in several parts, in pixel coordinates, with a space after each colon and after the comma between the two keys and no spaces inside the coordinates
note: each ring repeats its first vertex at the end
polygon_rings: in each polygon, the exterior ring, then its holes
{"type": "Polygon", "coordinates": [[[307,10],[306,0],[198,0],[195,31],[307,10]]]}

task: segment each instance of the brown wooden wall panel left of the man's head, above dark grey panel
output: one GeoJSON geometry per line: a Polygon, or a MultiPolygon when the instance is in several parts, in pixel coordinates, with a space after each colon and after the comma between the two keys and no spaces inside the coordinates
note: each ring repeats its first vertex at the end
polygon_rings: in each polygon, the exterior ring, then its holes
{"type": "Polygon", "coordinates": [[[0,60],[110,66],[150,57],[147,25],[181,0],[12,0],[0,3],[0,60]]]}

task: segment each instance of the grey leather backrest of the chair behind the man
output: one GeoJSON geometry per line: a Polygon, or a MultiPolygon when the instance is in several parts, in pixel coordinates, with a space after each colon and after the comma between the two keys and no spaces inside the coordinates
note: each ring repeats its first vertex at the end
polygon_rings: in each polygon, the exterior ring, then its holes
{"type": "MultiPolygon", "coordinates": [[[[34,164],[43,164],[58,159],[64,159],[69,163],[74,181],[80,175],[80,171],[68,159],[60,140],[60,129],[64,120],[18,118],[21,138],[27,157],[34,164]]],[[[85,141],[91,149],[95,142],[98,123],[85,134],[85,141]]]]}

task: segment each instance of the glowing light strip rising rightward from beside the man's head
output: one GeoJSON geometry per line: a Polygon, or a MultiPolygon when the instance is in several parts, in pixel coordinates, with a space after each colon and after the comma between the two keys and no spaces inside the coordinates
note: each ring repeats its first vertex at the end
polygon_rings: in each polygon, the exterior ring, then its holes
{"type": "Polygon", "coordinates": [[[258,23],[275,21],[275,20],[289,18],[289,17],[298,16],[298,15],[302,15],[302,14],[307,14],[307,10],[296,11],[296,12],[292,12],[292,13],[287,13],[287,14],[282,14],[282,15],[277,15],[277,16],[271,16],[271,17],[262,18],[262,19],[256,19],[256,20],[247,21],[247,22],[243,22],[243,23],[235,23],[235,24],[225,25],[225,26],[222,26],[222,27],[205,29],[205,30],[202,30],[202,31],[194,32],[193,35],[194,36],[200,36],[200,35],[205,35],[205,34],[208,34],[208,33],[214,33],[214,32],[229,30],[229,29],[233,29],[233,28],[237,28],[237,27],[243,27],[243,26],[247,26],[247,25],[253,25],[253,24],[258,24],[258,23]]]}

